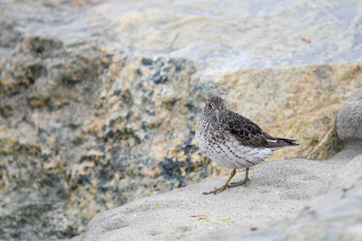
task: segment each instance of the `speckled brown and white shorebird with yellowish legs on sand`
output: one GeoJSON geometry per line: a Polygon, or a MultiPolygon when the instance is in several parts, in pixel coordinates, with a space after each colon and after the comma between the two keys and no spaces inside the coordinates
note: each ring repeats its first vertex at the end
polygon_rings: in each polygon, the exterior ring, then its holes
{"type": "Polygon", "coordinates": [[[227,109],[220,96],[211,96],[206,101],[197,122],[195,138],[203,154],[232,170],[223,186],[202,193],[205,195],[243,184],[247,186],[249,167],[264,162],[274,150],[299,145],[295,140],[265,133],[248,118],[227,109]],[[236,169],[240,168],[246,168],[244,180],[229,184],[236,169]]]}

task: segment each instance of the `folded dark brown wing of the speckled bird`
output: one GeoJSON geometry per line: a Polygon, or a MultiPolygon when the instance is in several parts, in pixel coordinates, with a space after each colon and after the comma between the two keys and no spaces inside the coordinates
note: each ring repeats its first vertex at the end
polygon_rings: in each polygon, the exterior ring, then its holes
{"type": "Polygon", "coordinates": [[[236,112],[230,111],[229,116],[232,118],[227,122],[226,132],[230,132],[243,146],[278,149],[299,145],[294,140],[277,138],[265,133],[258,125],[236,112]]]}

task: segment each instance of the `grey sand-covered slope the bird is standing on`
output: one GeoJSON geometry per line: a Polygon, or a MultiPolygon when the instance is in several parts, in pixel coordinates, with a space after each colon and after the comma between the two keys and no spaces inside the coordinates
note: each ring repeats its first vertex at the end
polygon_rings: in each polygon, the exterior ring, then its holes
{"type": "MultiPolygon", "coordinates": [[[[96,215],[73,240],[192,240],[254,218],[277,218],[298,210],[354,156],[361,143],[345,143],[327,160],[288,159],[251,168],[247,187],[202,195],[226,177],[136,200],[96,215]]],[[[241,180],[239,171],[233,181],[241,180]]]]}

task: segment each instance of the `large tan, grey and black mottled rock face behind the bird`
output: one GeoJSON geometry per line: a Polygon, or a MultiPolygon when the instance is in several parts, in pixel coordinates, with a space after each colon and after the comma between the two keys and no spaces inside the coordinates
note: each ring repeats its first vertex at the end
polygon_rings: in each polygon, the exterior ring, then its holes
{"type": "Polygon", "coordinates": [[[211,95],[298,139],[270,160],[340,151],[338,109],[362,85],[361,9],[2,1],[0,238],[72,237],[98,212],[228,175],[194,139],[211,95]]]}

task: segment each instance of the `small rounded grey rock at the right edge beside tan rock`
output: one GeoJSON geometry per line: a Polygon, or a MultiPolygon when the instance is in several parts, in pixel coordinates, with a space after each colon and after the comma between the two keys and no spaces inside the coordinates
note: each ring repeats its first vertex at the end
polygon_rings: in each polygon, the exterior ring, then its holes
{"type": "Polygon", "coordinates": [[[342,141],[362,139],[362,89],[354,92],[338,112],[337,133],[342,141]]]}

